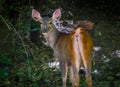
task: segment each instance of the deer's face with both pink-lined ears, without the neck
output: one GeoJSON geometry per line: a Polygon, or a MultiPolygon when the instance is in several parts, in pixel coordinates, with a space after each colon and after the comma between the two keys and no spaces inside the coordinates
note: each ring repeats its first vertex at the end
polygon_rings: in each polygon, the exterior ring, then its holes
{"type": "Polygon", "coordinates": [[[37,10],[33,9],[32,10],[32,18],[35,21],[39,21],[41,23],[42,33],[47,33],[47,31],[50,31],[53,28],[52,24],[54,24],[55,21],[60,20],[61,11],[60,11],[60,9],[57,9],[57,10],[55,10],[55,12],[53,13],[51,18],[48,18],[48,17],[42,18],[40,13],[37,10]]]}

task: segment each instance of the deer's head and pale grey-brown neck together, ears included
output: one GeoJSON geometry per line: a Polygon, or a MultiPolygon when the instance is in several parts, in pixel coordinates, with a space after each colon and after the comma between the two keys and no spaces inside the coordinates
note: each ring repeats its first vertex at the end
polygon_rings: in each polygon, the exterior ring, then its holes
{"type": "Polygon", "coordinates": [[[53,15],[51,18],[49,17],[41,17],[40,13],[33,9],[32,10],[32,18],[35,21],[39,21],[41,24],[41,31],[42,34],[44,35],[44,38],[46,39],[47,43],[46,45],[49,45],[53,48],[53,45],[55,43],[55,40],[57,38],[58,32],[54,26],[54,23],[56,21],[59,21],[61,18],[61,10],[56,9],[53,12],[53,15]]]}

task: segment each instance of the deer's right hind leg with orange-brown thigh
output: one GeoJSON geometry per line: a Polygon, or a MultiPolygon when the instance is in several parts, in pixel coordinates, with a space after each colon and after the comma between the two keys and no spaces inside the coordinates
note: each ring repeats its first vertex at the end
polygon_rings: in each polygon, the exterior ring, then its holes
{"type": "Polygon", "coordinates": [[[91,52],[92,52],[92,48],[90,48],[87,44],[81,44],[81,48],[80,48],[80,52],[81,52],[81,58],[83,61],[83,65],[85,67],[85,77],[86,77],[86,81],[88,84],[88,87],[92,87],[92,78],[91,78],[91,52]]]}

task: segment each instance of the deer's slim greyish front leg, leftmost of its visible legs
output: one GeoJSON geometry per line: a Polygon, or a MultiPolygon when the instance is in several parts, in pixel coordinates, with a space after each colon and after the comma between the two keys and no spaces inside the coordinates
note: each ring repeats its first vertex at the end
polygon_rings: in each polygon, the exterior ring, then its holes
{"type": "Polygon", "coordinates": [[[60,70],[62,73],[63,87],[66,87],[68,67],[67,67],[67,64],[63,61],[60,61],[60,70]]]}

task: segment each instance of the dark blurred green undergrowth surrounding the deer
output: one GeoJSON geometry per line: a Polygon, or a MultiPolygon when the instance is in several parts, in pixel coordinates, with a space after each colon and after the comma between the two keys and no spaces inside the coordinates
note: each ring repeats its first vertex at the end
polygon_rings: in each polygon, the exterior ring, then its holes
{"type": "MultiPolygon", "coordinates": [[[[112,0],[0,0],[0,87],[62,87],[59,69],[48,65],[56,59],[42,44],[32,8],[42,16],[61,8],[62,19],[94,22],[90,34],[100,47],[93,52],[94,87],[120,87],[120,5],[112,0]]],[[[80,83],[87,87],[84,78],[80,83]]]]}

